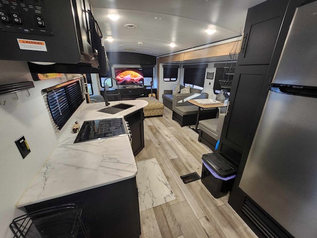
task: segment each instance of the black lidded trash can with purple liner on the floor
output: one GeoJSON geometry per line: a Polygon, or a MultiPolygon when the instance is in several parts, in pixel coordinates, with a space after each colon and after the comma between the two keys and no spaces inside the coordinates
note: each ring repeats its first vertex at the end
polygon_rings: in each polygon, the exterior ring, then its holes
{"type": "Polygon", "coordinates": [[[232,188],[237,167],[216,153],[205,154],[202,160],[202,183],[213,197],[225,196],[232,188]]]}

